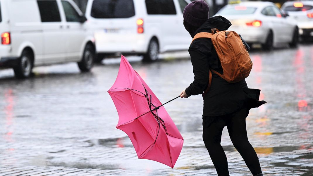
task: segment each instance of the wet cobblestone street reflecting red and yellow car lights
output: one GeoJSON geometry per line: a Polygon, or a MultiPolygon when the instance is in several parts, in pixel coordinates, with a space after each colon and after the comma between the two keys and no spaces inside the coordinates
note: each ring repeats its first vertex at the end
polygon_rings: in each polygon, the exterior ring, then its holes
{"type": "MultiPolygon", "coordinates": [[[[313,44],[250,52],[249,88],[267,104],[247,118],[249,141],[264,175],[313,175],[313,44]]],[[[127,57],[161,102],[193,81],[188,53],[165,54],[155,63],[127,57]],[[178,58],[176,58],[178,57],[178,58]]],[[[184,138],[175,167],[138,159],[107,93],[120,59],[91,73],[75,63],[38,67],[26,80],[0,70],[0,176],[217,175],[202,140],[202,96],[165,105],[184,138]]],[[[231,176],[251,175],[226,127],[222,146],[231,176]]]]}

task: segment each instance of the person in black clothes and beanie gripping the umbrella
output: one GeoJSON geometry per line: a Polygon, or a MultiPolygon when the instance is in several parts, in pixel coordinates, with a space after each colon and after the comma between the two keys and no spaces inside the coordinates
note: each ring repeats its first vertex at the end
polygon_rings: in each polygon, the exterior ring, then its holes
{"type": "MultiPolygon", "coordinates": [[[[203,1],[193,1],[184,11],[184,26],[193,38],[197,33],[209,32],[211,28],[227,30],[231,23],[221,16],[208,18],[209,7],[203,1]]],[[[223,74],[211,39],[198,38],[189,47],[194,81],[182,91],[181,98],[203,95],[203,141],[208,149],[218,175],[229,175],[227,158],[220,144],[224,126],[234,147],[238,150],[254,176],[263,176],[259,159],[248,141],[245,118],[249,109],[266,103],[259,101],[258,89],[248,89],[245,80],[228,83],[213,73],[208,93],[209,69],[223,74]]]]}

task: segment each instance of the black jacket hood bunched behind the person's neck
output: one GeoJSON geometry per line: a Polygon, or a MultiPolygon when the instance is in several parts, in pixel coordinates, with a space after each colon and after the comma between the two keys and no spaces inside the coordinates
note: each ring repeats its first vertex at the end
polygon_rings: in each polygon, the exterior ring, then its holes
{"type": "Polygon", "coordinates": [[[191,36],[192,38],[197,34],[201,32],[209,32],[211,33],[212,28],[217,28],[220,31],[227,30],[232,23],[228,21],[228,19],[222,17],[222,16],[216,16],[208,18],[207,21],[205,21],[197,30],[196,32],[191,36]]]}

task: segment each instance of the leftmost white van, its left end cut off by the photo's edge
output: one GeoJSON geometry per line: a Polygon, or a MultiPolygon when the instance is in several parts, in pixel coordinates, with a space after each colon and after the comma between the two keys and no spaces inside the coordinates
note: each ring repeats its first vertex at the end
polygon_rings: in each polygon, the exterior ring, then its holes
{"type": "Polygon", "coordinates": [[[90,71],[94,38],[72,0],[0,0],[0,67],[27,78],[33,66],[78,62],[90,71]]]}

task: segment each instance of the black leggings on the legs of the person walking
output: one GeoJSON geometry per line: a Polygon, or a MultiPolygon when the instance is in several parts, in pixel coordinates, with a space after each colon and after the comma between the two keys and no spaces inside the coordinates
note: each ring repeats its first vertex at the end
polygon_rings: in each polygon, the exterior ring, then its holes
{"type": "MultiPolygon", "coordinates": [[[[227,158],[221,146],[224,126],[227,126],[229,137],[234,147],[244,159],[251,173],[253,175],[262,173],[259,158],[248,140],[246,117],[247,110],[244,108],[235,114],[216,117],[215,119],[207,119],[212,121],[211,124],[203,125],[203,141],[219,176],[229,175],[227,158]]],[[[206,120],[205,118],[211,117],[203,117],[204,121],[206,120]]]]}

